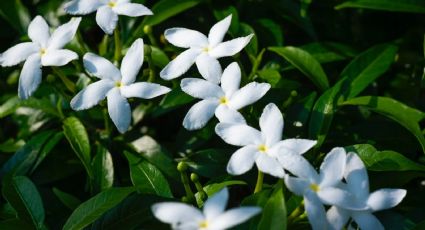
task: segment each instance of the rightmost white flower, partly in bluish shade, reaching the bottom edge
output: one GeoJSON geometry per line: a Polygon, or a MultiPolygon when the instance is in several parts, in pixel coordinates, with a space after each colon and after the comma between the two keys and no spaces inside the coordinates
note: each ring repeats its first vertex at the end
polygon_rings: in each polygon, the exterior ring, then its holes
{"type": "Polygon", "coordinates": [[[378,218],[372,212],[388,209],[399,204],[406,196],[404,189],[379,189],[369,194],[369,179],[366,168],[355,153],[347,156],[345,170],[347,190],[350,191],[359,204],[366,204],[367,210],[356,211],[333,206],[328,210],[327,217],[333,229],[342,229],[351,217],[363,230],[384,229],[378,218]]]}

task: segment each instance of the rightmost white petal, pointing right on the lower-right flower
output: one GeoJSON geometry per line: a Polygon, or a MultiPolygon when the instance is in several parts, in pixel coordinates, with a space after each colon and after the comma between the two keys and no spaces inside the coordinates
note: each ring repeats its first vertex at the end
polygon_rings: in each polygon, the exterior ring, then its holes
{"type": "Polygon", "coordinates": [[[404,189],[379,189],[370,194],[367,205],[373,211],[389,209],[398,205],[406,196],[404,189]]]}

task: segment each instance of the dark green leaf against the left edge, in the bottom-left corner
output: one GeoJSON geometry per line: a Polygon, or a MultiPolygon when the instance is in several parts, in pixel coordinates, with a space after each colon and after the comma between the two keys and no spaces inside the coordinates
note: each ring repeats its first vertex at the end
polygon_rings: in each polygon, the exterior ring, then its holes
{"type": "Polygon", "coordinates": [[[24,176],[7,178],[3,181],[3,196],[16,210],[19,219],[41,229],[44,223],[44,207],[37,188],[24,176]]]}

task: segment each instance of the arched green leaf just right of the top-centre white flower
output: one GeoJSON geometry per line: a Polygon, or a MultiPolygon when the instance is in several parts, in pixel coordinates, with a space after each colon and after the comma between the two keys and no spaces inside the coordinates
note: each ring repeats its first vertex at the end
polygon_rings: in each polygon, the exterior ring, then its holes
{"type": "Polygon", "coordinates": [[[285,58],[305,74],[320,90],[324,91],[329,88],[325,71],[323,71],[320,63],[308,52],[292,46],[270,47],[269,50],[285,58]]]}

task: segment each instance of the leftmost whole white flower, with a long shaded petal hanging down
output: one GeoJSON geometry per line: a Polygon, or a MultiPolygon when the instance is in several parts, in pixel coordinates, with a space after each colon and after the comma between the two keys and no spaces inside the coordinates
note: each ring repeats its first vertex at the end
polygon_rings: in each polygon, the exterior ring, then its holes
{"type": "Polygon", "coordinates": [[[80,21],[81,18],[73,18],[50,35],[46,21],[37,16],[28,27],[32,42],[17,44],[1,54],[0,64],[3,67],[25,61],[19,77],[20,98],[27,99],[38,88],[42,66],[63,66],[78,58],[75,52],[62,48],[73,39],[80,21]]]}

